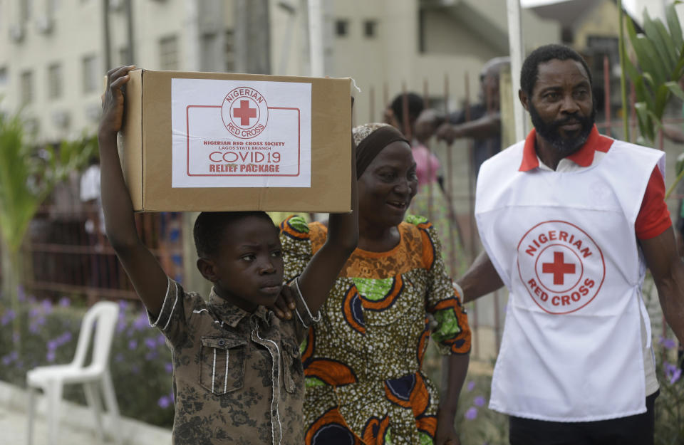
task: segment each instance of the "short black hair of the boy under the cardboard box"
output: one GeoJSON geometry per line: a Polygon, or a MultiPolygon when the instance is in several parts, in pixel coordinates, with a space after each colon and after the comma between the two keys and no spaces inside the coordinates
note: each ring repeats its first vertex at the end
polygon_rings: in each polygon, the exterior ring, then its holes
{"type": "Polygon", "coordinates": [[[269,221],[273,225],[273,229],[277,230],[271,216],[265,211],[202,211],[197,216],[195,227],[192,230],[197,256],[199,258],[215,256],[226,227],[250,217],[269,221]]]}

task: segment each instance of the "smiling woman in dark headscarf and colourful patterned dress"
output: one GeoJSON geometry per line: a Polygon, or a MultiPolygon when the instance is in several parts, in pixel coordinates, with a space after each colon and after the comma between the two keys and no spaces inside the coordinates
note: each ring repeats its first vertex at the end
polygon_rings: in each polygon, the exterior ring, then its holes
{"type": "MultiPolygon", "coordinates": [[[[420,217],[403,221],[418,185],[411,147],[390,125],[362,125],[353,135],[358,248],[301,345],[305,443],[457,444],[470,329],[435,229],[420,217]],[[451,354],[440,404],[421,369],[430,335],[451,354]]],[[[325,239],[325,224],[284,221],[285,278],[301,273],[325,239]]]]}

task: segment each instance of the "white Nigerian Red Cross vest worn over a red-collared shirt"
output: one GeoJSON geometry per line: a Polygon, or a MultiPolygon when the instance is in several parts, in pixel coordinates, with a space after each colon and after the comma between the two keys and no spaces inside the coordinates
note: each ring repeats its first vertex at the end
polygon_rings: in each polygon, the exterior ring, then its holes
{"type": "MultiPolygon", "coordinates": [[[[646,412],[634,223],[663,152],[615,141],[591,167],[519,172],[524,141],[482,164],[475,216],[509,289],[489,407],[586,422],[646,412]]],[[[649,344],[650,346],[650,344],[649,344]]]]}

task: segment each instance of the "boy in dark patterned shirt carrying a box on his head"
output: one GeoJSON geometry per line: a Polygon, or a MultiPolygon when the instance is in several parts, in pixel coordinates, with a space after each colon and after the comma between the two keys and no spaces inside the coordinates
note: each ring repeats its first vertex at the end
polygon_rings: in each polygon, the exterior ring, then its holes
{"type": "MultiPolygon", "coordinates": [[[[167,278],[138,238],[116,134],[123,118],[123,66],[108,73],[100,122],[102,204],[110,243],[173,353],[176,445],[304,443],[304,374],[299,343],[356,248],[356,168],[351,214],[331,214],[328,242],[291,284],[290,320],[273,317],[281,291],[279,233],[264,212],[202,213],[197,268],[214,283],[209,301],[167,278]],[[304,299],[302,295],[305,295],[304,299]]],[[[352,156],[354,159],[354,156],[352,156]]]]}

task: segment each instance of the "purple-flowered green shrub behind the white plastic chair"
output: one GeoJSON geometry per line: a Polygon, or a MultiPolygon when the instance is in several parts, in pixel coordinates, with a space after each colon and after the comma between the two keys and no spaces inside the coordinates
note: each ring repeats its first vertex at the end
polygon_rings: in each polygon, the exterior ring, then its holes
{"type": "MultiPolygon", "coordinates": [[[[57,304],[19,293],[20,313],[0,315],[0,380],[26,386],[26,372],[36,366],[66,364],[73,359],[86,306],[62,298],[57,304]],[[22,350],[9,341],[11,322],[21,318],[22,350]]],[[[120,301],[110,355],[110,370],[119,409],[125,417],[170,427],[173,423],[171,352],[164,337],[150,328],[139,304],[120,301]]],[[[86,404],[80,385],[67,385],[65,399],[86,404]]]]}

